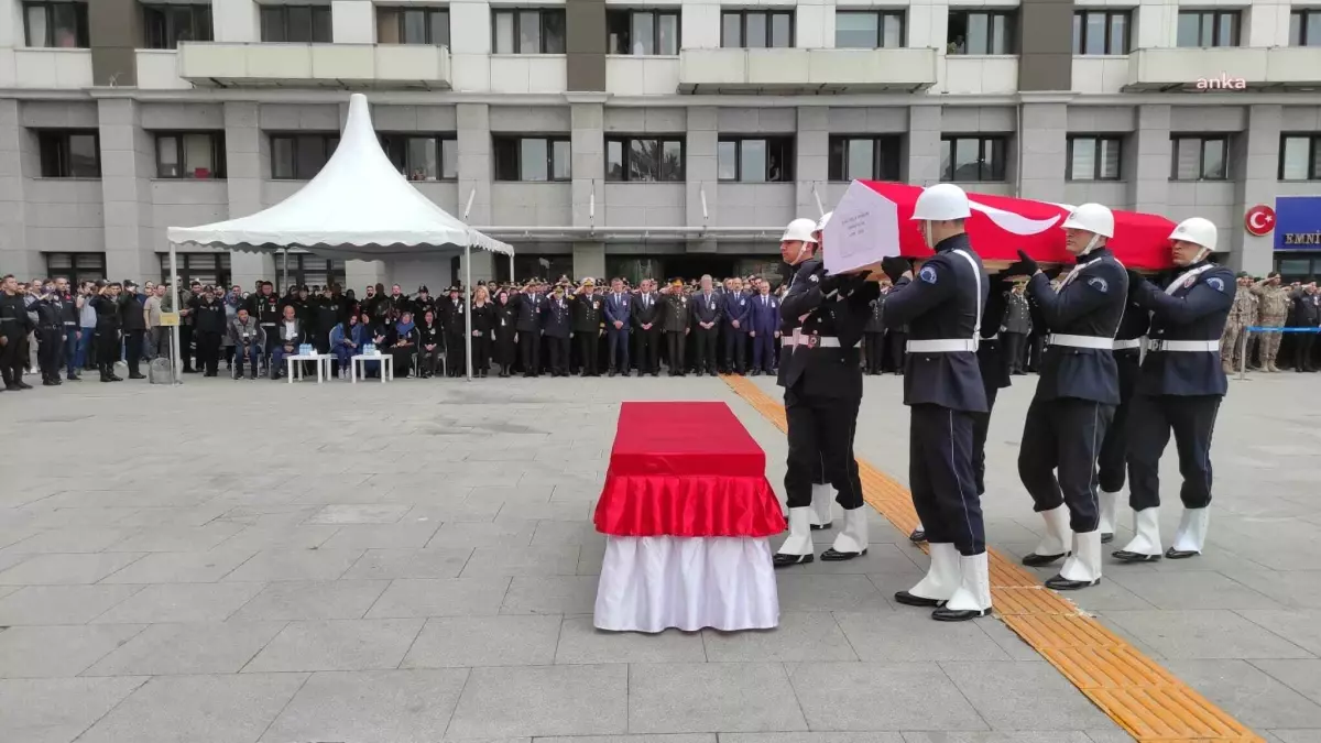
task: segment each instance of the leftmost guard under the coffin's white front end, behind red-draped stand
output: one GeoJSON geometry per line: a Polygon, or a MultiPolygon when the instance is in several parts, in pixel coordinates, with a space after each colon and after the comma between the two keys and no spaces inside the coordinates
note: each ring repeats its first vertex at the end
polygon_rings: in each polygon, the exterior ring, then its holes
{"type": "MultiPolygon", "coordinates": [[[[863,402],[863,368],[857,344],[871,315],[871,300],[878,287],[865,274],[827,275],[811,255],[818,237],[811,219],[790,222],[782,241],[799,268],[779,313],[785,320],[801,320],[793,353],[781,362],[785,386],[785,418],[789,434],[789,460],[785,490],[789,494],[789,538],[774,557],[775,567],[812,562],[814,469],[820,467],[826,481],[839,493],[844,508],[844,528],[835,543],[822,553],[827,562],[853,559],[867,554],[867,510],[863,509],[863,483],[853,459],[853,432],[863,402]]],[[[828,506],[828,502],[827,502],[828,506]]]]}

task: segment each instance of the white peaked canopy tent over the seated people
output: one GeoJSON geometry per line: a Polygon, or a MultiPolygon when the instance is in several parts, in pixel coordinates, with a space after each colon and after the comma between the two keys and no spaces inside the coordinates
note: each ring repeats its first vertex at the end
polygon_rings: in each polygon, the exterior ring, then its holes
{"type": "MultiPolygon", "coordinates": [[[[472,291],[472,250],[507,255],[514,275],[514,249],[470,229],[423,196],[395,169],[371,126],[367,97],[349,98],[349,118],[330,161],[297,193],[280,204],[238,219],[170,227],[170,275],[178,276],[176,246],[194,243],[243,253],[279,253],[301,247],[326,258],[383,260],[464,255],[464,286],[472,291]]],[[[178,308],[178,282],[172,280],[178,308]]],[[[465,299],[466,301],[466,299],[465,299]]],[[[468,378],[473,377],[472,313],[466,323],[468,378]]],[[[174,358],[178,329],[174,329],[174,358]]],[[[180,379],[178,364],[174,369],[180,379]]]]}

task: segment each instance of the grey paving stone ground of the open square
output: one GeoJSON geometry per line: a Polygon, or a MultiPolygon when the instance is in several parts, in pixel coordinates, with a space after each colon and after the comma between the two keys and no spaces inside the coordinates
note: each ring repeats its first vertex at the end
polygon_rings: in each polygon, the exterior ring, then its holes
{"type": "MultiPolygon", "coordinates": [[[[1015,381],[987,514],[1021,553],[1015,381]]],[[[1316,385],[1232,386],[1214,551],[1075,596],[1272,743],[1321,740],[1316,385]]],[[[902,481],[900,397],[867,379],[857,451],[902,481]]],[[[0,740],[1131,740],[997,620],[896,607],[926,558],[878,516],[868,557],[779,574],[777,631],[597,632],[590,513],[625,399],[728,401],[782,494],[783,435],[709,378],[0,395],[0,740]]]]}

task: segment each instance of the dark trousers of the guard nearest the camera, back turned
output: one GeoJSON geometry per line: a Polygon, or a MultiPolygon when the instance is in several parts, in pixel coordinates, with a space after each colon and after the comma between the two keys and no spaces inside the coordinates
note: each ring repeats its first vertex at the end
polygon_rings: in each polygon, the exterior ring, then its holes
{"type": "Polygon", "coordinates": [[[909,487],[926,541],[962,555],[987,550],[982,497],[972,473],[972,414],[914,405],[909,418],[909,487]]]}

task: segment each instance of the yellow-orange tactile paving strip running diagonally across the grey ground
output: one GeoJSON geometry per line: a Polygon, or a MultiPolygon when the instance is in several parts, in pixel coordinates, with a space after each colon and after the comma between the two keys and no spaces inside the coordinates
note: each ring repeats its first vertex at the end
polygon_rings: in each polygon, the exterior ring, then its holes
{"type": "MultiPolygon", "coordinates": [[[[786,428],[785,406],[742,377],[724,377],[741,398],[786,428]]],[[[863,497],[905,534],[917,525],[906,488],[859,459],[863,497]]],[[[923,546],[925,549],[925,546],[923,546]]],[[[1141,743],[1266,743],[1159,664],[1106,629],[1037,576],[987,550],[995,612],[1074,686],[1141,743]]]]}

